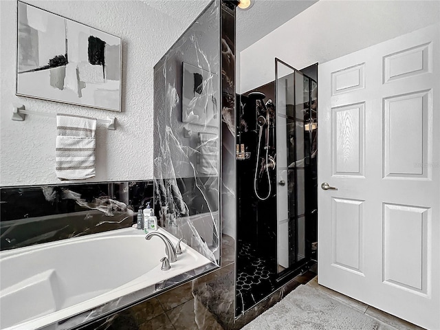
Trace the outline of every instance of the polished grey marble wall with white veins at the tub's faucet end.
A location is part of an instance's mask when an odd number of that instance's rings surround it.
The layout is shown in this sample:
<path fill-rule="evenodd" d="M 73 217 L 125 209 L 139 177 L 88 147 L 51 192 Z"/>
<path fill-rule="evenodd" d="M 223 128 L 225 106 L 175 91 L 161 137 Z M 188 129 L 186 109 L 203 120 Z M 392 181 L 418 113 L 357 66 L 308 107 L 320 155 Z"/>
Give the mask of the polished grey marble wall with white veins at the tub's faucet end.
<path fill-rule="evenodd" d="M 210 3 L 154 67 L 155 213 L 159 225 L 216 264 L 220 254 L 219 8 L 219 1 Z"/>

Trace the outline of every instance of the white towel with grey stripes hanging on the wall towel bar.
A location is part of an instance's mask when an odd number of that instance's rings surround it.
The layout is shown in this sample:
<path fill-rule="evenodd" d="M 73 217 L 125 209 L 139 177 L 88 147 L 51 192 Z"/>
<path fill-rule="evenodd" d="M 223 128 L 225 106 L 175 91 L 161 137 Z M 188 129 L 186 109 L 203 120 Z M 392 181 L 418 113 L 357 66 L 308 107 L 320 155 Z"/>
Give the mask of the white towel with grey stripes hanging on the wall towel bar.
<path fill-rule="evenodd" d="M 56 177 L 82 180 L 95 176 L 96 118 L 56 115 Z"/>

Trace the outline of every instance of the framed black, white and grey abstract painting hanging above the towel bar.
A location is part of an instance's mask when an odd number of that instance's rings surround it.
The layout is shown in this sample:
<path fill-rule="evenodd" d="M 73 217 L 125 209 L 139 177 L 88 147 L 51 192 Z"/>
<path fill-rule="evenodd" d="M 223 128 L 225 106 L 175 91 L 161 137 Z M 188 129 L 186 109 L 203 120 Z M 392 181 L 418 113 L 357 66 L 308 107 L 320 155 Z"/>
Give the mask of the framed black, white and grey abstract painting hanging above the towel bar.
<path fill-rule="evenodd" d="M 17 95 L 121 111 L 121 39 L 18 6 Z"/>

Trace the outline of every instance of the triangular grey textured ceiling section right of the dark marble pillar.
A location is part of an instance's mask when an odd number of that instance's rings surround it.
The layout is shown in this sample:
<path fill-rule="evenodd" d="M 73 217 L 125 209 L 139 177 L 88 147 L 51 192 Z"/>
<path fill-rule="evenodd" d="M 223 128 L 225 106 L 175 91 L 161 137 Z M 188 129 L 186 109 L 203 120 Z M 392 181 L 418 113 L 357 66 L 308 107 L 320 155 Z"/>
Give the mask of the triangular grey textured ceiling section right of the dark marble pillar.
<path fill-rule="evenodd" d="M 317 0 L 254 0 L 249 10 L 236 10 L 236 49 L 240 52 L 283 25 Z"/>

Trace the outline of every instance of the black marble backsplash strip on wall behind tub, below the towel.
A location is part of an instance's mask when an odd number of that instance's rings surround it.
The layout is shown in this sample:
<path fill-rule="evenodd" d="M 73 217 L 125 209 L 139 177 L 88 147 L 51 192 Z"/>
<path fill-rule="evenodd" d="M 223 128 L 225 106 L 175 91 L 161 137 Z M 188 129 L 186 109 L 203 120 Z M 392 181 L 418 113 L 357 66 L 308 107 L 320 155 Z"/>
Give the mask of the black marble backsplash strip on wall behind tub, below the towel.
<path fill-rule="evenodd" d="M 0 188 L 1 250 L 130 227 L 153 181 Z"/>

